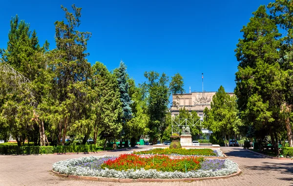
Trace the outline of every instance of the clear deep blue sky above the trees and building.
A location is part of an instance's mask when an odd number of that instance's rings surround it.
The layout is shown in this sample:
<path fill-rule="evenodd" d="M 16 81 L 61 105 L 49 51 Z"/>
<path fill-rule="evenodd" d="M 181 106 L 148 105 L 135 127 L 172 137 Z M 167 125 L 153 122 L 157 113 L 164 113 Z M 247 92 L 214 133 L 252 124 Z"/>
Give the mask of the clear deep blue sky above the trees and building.
<path fill-rule="evenodd" d="M 60 5 L 82 7 L 79 31 L 89 31 L 88 61 L 109 70 L 122 59 L 135 82 L 145 71 L 180 73 L 185 90 L 227 92 L 235 88 L 234 49 L 252 12 L 270 0 L 13 0 L 1 2 L 0 48 L 6 48 L 10 19 L 16 14 L 37 31 L 40 43 L 55 48 L 54 22 L 64 19 Z"/>

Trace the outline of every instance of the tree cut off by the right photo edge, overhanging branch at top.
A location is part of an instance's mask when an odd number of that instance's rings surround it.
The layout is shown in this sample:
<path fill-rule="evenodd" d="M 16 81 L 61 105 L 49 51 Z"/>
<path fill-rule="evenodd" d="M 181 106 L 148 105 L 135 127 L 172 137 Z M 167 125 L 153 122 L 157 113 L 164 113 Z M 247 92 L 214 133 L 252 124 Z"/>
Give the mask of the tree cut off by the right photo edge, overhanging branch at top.
<path fill-rule="evenodd" d="M 285 30 L 284 36 L 280 39 L 282 42 L 280 53 L 282 58 L 278 61 L 281 69 L 284 71 L 283 91 L 281 97 L 280 115 L 282 122 L 285 123 L 287 130 L 287 138 L 289 146 L 293 147 L 293 132 L 292 132 L 292 108 L 293 108 L 293 60 L 292 60 L 292 44 L 293 44 L 293 1 L 292 0 L 275 0 L 268 5 L 272 18 L 276 24 Z"/>

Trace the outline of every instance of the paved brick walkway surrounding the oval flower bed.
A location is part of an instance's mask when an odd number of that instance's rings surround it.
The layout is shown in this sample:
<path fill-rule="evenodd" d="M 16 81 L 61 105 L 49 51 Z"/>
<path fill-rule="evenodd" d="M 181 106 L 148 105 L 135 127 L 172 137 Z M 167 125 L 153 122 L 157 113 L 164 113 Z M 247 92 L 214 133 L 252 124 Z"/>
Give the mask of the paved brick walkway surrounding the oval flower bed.
<path fill-rule="evenodd" d="M 147 146 L 146 146 L 147 147 Z M 180 186 L 293 186 L 293 160 L 262 158 L 242 148 L 221 148 L 238 163 L 240 176 L 197 182 L 173 183 Z M 126 151 L 105 152 L 118 155 Z M 169 186 L 172 183 L 111 183 L 61 178 L 50 172 L 54 162 L 93 154 L 0 155 L 0 186 Z"/>

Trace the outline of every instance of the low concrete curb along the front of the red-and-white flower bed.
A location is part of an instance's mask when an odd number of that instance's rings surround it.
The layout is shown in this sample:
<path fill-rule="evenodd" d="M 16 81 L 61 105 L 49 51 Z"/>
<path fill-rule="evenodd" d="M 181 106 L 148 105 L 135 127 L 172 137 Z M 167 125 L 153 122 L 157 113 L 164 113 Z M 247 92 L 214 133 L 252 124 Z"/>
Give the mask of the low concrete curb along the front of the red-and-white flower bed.
<path fill-rule="evenodd" d="M 194 182 L 202 180 L 216 180 L 216 179 L 225 179 L 234 176 L 239 176 L 242 171 L 238 168 L 238 172 L 228 175 L 228 176 L 217 176 L 217 177 L 205 177 L 205 178 L 179 178 L 179 179 L 160 179 L 160 178 L 144 178 L 144 179 L 129 179 L 129 178 L 106 178 L 106 177 L 92 177 L 92 176 L 75 176 L 75 175 L 66 175 L 60 174 L 54 170 L 51 170 L 54 174 L 61 177 L 68 177 L 78 180 L 91 180 L 91 181 L 100 181 L 100 182 L 120 182 L 120 183 L 132 183 L 132 182 Z"/>

